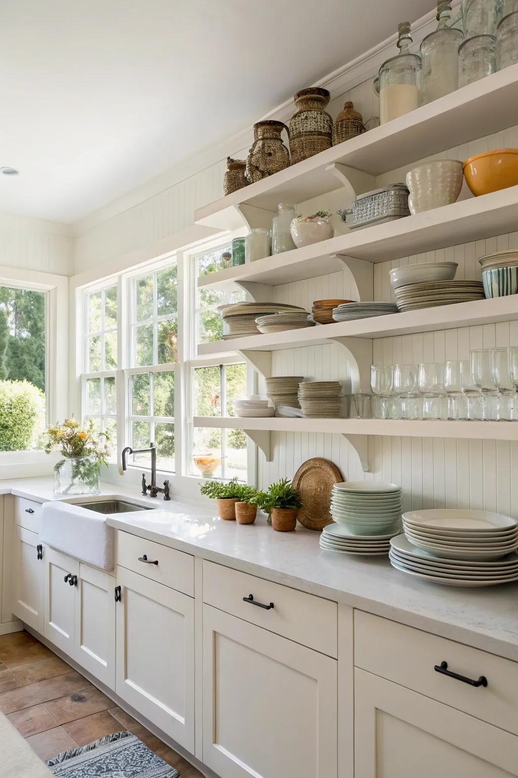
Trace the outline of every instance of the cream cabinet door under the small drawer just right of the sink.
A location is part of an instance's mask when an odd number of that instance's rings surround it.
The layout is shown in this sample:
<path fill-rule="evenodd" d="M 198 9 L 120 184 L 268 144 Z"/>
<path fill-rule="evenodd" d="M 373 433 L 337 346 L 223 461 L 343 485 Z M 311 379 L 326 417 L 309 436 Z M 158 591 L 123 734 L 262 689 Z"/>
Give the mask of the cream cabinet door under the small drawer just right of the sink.
<path fill-rule="evenodd" d="M 194 600 L 116 569 L 116 693 L 194 753 Z"/>

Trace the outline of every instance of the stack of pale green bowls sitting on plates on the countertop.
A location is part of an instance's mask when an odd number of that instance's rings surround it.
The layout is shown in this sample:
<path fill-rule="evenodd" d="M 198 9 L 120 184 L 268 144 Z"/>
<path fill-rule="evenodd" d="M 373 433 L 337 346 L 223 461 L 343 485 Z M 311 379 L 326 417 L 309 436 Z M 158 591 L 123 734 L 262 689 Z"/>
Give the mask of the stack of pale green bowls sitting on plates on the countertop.
<path fill-rule="evenodd" d="M 400 531 L 401 487 L 377 482 L 346 481 L 332 487 L 331 515 L 353 534 L 386 535 Z"/>

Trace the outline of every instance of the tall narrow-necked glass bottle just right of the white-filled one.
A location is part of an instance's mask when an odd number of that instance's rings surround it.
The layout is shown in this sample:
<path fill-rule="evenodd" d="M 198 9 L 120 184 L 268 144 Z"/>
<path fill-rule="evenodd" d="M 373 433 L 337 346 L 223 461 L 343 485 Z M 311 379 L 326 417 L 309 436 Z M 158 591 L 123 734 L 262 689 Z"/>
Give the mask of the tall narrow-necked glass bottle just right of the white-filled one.
<path fill-rule="evenodd" d="M 419 105 L 427 105 L 458 88 L 459 46 L 461 30 L 448 26 L 451 16 L 450 0 L 438 0 L 439 25 L 434 33 L 422 40 L 422 69 L 419 76 Z"/>

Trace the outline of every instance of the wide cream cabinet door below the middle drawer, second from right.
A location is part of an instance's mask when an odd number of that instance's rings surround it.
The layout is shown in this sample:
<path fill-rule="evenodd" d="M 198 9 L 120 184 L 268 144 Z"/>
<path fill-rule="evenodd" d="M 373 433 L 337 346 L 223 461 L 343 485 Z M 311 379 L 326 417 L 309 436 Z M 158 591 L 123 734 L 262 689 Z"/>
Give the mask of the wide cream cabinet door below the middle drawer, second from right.
<path fill-rule="evenodd" d="M 203 605 L 203 762 L 225 778 L 335 778 L 337 663 Z"/>

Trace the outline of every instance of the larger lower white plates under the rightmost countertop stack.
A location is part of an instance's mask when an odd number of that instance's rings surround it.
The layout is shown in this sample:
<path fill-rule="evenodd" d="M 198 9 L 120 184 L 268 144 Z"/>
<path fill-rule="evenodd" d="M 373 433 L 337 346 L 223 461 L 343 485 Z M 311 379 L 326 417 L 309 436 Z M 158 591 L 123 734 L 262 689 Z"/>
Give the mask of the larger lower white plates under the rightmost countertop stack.
<path fill-rule="evenodd" d="M 404 534 L 392 538 L 389 559 L 402 573 L 443 586 L 479 587 L 509 584 L 518 580 L 518 554 L 500 559 L 445 559 L 412 545 Z"/>

